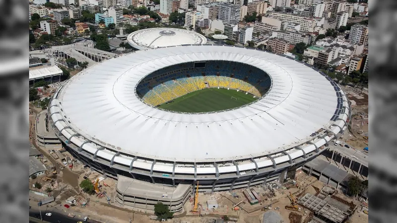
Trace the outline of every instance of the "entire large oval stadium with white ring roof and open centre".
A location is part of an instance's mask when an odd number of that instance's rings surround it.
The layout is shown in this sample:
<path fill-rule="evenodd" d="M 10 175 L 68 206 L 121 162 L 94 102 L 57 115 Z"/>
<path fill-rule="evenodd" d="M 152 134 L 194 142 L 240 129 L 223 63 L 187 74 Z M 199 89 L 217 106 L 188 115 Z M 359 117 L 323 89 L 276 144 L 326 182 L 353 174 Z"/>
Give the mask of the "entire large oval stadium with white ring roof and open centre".
<path fill-rule="evenodd" d="M 350 105 L 301 61 L 190 45 L 81 71 L 55 93 L 48 118 L 73 156 L 118 179 L 119 203 L 180 211 L 197 181 L 212 193 L 293 178 L 347 128 Z"/>

